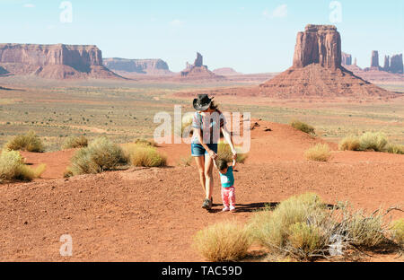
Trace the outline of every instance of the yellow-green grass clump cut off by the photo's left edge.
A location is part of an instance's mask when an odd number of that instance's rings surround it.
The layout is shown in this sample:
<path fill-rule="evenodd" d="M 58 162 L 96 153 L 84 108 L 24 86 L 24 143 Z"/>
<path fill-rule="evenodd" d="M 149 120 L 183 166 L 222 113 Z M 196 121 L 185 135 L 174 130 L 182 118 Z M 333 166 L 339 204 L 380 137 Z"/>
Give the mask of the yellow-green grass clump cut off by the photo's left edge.
<path fill-rule="evenodd" d="M 40 178 L 46 165 L 40 164 L 35 170 L 25 165 L 22 155 L 17 151 L 4 150 L 0 154 L 0 183 L 4 181 L 32 180 Z"/>

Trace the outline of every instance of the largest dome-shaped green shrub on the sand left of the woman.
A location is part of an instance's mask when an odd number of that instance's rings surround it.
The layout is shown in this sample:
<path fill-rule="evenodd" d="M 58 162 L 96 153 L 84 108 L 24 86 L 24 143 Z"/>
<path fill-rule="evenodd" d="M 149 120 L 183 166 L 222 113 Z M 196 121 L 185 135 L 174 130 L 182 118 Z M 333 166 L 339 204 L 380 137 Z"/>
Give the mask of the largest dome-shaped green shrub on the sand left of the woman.
<path fill-rule="evenodd" d="M 70 162 L 66 175 L 95 174 L 127 164 L 127 157 L 119 144 L 100 137 L 76 151 Z"/>

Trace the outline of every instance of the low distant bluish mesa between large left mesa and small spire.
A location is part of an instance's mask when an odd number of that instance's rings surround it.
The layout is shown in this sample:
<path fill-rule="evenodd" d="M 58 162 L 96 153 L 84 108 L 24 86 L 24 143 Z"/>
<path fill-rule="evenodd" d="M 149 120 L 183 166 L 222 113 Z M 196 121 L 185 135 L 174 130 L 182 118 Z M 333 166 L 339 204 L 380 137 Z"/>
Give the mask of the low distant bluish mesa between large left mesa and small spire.
<path fill-rule="evenodd" d="M 127 59 L 104 58 L 104 66 L 117 73 L 130 74 L 172 74 L 169 66 L 162 59 Z"/>

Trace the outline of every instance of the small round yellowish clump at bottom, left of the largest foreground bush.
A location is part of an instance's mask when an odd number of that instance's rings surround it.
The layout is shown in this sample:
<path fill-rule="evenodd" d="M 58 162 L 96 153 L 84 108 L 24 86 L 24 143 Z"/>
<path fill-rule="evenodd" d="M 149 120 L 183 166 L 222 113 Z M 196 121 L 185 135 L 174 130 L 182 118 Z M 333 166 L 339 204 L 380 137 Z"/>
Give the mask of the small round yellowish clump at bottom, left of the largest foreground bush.
<path fill-rule="evenodd" d="M 234 261 L 246 256 L 249 231 L 234 221 L 215 223 L 197 232 L 193 247 L 209 261 Z"/>

